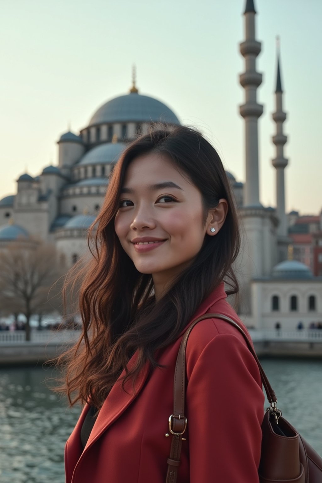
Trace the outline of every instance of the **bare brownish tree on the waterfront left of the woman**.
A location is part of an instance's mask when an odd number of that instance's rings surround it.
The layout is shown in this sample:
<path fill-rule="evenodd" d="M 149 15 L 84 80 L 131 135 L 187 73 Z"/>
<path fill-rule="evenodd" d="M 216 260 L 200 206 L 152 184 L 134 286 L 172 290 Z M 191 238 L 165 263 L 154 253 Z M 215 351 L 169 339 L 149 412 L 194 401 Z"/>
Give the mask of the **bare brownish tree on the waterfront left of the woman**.
<path fill-rule="evenodd" d="M 56 248 L 44 243 L 26 247 L 13 243 L 0 253 L 0 306 L 7 313 L 26 317 L 26 341 L 30 341 L 30 317 L 55 310 L 48 293 L 66 268 Z M 50 310 L 50 307 L 52 309 Z"/>

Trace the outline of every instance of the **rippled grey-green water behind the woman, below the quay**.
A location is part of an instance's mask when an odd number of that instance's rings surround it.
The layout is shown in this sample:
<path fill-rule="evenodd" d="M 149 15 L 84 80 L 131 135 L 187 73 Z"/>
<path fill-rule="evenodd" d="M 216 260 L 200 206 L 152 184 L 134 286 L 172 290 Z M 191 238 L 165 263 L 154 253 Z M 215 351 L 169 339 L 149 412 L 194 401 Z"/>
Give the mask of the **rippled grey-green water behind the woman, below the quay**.
<path fill-rule="evenodd" d="M 263 360 L 279 408 L 322 455 L 322 361 Z M 0 483 L 63 483 L 64 445 L 80 407 L 43 381 L 52 369 L 0 369 Z"/>

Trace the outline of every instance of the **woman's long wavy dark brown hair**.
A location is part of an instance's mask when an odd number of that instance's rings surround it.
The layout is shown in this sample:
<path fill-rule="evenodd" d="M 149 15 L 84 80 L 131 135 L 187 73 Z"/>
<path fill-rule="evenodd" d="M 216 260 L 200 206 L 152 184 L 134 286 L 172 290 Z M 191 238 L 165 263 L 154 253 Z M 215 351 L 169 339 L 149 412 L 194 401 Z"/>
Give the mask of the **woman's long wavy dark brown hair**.
<path fill-rule="evenodd" d="M 168 156 L 199 189 L 205 219 L 219 199 L 228 202 L 218 234 L 205 236 L 193 262 L 159 300 L 153 296 L 152 276 L 135 268 L 114 230 L 126 169 L 134 158 L 149 152 Z M 178 338 L 218 284 L 224 281 L 227 294 L 237 294 L 232 263 L 239 245 L 235 200 L 223 164 L 196 129 L 154 127 L 128 144 L 115 165 L 102 209 L 89 233 L 91 259 L 76 277 L 70 274 L 74 286 L 80 283 L 78 307 L 83 331 L 75 346 L 57 359 L 64 375 L 56 391 L 65 393 L 70 405 L 89 402 L 99 409 L 136 351 L 137 362 L 133 369 L 126 369 L 123 384 L 128 378 L 134 381 L 147 361 L 152 370 L 158 367 L 159 350 Z"/>

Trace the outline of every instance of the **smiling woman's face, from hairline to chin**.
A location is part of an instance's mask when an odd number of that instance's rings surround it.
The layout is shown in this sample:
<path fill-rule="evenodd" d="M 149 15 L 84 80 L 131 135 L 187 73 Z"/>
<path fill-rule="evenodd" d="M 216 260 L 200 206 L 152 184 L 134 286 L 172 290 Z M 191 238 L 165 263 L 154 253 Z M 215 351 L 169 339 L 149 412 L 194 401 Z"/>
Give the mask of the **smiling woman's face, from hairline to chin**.
<path fill-rule="evenodd" d="M 206 232 L 212 234 L 203 223 L 200 191 L 164 155 L 148 153 L 130 163 L 119 206 L 115 232 L 154 285 L 176 276 L 197 255 Z"/>

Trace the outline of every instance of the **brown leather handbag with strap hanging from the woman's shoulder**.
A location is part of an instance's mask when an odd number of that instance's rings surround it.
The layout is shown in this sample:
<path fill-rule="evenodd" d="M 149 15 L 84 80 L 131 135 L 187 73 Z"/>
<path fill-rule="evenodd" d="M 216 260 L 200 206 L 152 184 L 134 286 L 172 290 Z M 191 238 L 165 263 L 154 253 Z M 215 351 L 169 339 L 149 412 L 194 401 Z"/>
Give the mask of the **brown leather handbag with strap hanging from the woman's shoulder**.
<path fill-rule="evenodd" d="M 184 398 L 185 349 L 188 337 L 191 330 L 200 320 L 209 318 L 223 319 L 241 332 L 257 362 L 267 399 L 270 403 L 262 423 L 262 450 L 258 469 L 260 483 L 322 483 L 322 458 L 302 438 L 296 429 L 282 417 L 282 413 L 276 405 L 277 398 L 275 392 L 271 388 L 261 363 L 252 348 L 252 344 L 243 329 L 234 320 L 220 313 L 206 313 L 198 317 L 188 327 L 182 337 L 175 369 L 173 414 L 169 417 L 169 430 L 172 434 L 172 441 L 168 458 L 166 483 L 176 483 L 177 481 L 182 435 L 187 426 L 187 419 L 184 416 Z"/>

